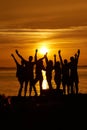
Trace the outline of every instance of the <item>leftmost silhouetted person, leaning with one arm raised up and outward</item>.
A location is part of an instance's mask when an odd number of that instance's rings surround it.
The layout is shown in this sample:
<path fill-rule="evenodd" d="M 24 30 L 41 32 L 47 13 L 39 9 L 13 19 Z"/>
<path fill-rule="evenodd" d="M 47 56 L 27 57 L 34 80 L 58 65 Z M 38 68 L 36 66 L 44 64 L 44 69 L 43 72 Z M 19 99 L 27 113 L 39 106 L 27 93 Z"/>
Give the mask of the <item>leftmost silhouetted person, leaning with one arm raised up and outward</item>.
<path fill-rule="evenodd" d="M 11 56 L 13 57 L 15 63 L 16 63 L 16 67 L 17 67 L 17 71 L 16 71 L 16 77 L 18 78 L 18 81 L 20 83 L 20 88 L 18 91 L 18 96 L 21 96 L 22 94 L 22 89 L 23 89 L 23 84 L 25 82 L 25 67 L 24 67 L 24 62 L 21 60 L 21 64 L 18 63 L 18 61 L 16 60 L 16 58 L 14 57 L 13 54 L 11 54 Z"/>

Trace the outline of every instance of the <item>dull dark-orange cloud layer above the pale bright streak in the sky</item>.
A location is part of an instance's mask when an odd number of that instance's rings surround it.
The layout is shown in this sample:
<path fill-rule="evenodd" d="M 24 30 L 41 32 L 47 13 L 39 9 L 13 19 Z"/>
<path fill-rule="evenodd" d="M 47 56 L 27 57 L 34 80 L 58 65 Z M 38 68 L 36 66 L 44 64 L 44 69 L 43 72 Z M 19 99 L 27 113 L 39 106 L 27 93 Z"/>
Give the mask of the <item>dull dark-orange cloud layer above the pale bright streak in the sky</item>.
<path fill-rule="evenodd" d="M 3 0 L 0 28 L 67 28 L 87 25 L 86 0 Z"/>

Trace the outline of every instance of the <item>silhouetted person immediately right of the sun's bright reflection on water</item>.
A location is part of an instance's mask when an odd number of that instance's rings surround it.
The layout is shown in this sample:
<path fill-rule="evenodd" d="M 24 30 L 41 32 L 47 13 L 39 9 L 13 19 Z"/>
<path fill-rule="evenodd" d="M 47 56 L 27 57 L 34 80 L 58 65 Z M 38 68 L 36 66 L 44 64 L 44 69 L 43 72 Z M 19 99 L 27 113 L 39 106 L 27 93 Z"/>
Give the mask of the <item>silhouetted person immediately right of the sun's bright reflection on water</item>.
<path fill-rule="evenodd" d="M 48 60 L 47 53 L 45 55 L 45 61 L 46 61 L 46 79 L 49 85 L 49 89 L 52 90 L 52 70 L 53 70 L 53 61 Z"/>

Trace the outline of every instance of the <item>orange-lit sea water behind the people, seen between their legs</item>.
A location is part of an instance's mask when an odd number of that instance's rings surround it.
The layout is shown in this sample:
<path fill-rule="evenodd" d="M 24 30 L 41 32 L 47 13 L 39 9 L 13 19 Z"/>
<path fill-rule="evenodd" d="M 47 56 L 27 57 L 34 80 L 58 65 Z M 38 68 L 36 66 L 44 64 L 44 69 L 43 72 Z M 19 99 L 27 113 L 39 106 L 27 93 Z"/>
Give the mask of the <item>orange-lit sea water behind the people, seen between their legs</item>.
<path fill-rule="evenodd" d="M 79 74 L 79 93 L 87 93 L 87 68 L 78 68 Z M 46 79 L 43 82 L 43 89 L 47 87 Z M 56 87 L 54 80 L 52 80 L 53 88 Z M 61 86 L 62 87 L 62 86 Z M 36 84 L 36 89 L 38 95 L 39 91 L 39 83 Z M 3 69 L 0 70 L 0 94 L 5 94 L 6 96 L 17 96 L 19 90 L 19 82 L 16 78 L 16 70 L 15 69 Z M 28 86 L 29 91 L 29 86 Z M 27 96 L 28 96 L 27 91 Z M 22 91 L 22 95 L 24 94 L 24 90 Z M 32 96 L 34 95 L 34 91 L 32 91 Z"/>

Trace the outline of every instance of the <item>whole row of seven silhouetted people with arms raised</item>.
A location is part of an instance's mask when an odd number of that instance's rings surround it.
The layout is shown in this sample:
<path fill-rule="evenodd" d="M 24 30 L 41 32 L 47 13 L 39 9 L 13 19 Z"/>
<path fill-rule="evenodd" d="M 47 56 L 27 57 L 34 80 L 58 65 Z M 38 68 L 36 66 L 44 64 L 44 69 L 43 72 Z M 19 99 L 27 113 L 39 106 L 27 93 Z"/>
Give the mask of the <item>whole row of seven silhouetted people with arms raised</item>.
<path fill-rule="evenodd" d="M 70 61 L 67 59 L 62 59 L 61 51 L 58 51 L 59 60 L 56 60 L 56 55 L 54 55 L 54 61 L 49 60 L 47 53 L 40 59 L 37 58 L 38 49 L 35 50 L 35 56 L 29 56 L 29 60 L 26 60 L 19 54 L 18 50 L 15 51 L 18 57 L 21 58 L 21 63 L 19 63 L 15 56 L 13 57 L 17 71 L 16 77 L 20 83 L 20 88 L 18 91 L 18 96 L 22 95 L 22 89 L 24 87 L 24 96 L 27 94 L 27 89 L 29 86 L 29 96 L 31 96 L 32 89 L 34 89 L 35 96 L 37 96 L 36 83 L 39 81 L 40 95 L 42 95 L 42 83 L 43 75 L 42 70 L 46 71 L 46 79 L 48 82 L 49 90 L 53 89 L 52 86 L 52 72 L 54 71 L 54 81 L 56 84 L 56 89 L 60 91 L 60 86 L 62 84 L 63 94 L 78 94 L 78 59 L 80 55 L 80 50 L 74 56 L 70 57 Z M 45 60 L 46 66 L 43 64 Z M 34 74 L 35 73 L 35 74 Z M 75 89 L 74 89 L 75 88 Z"/>

